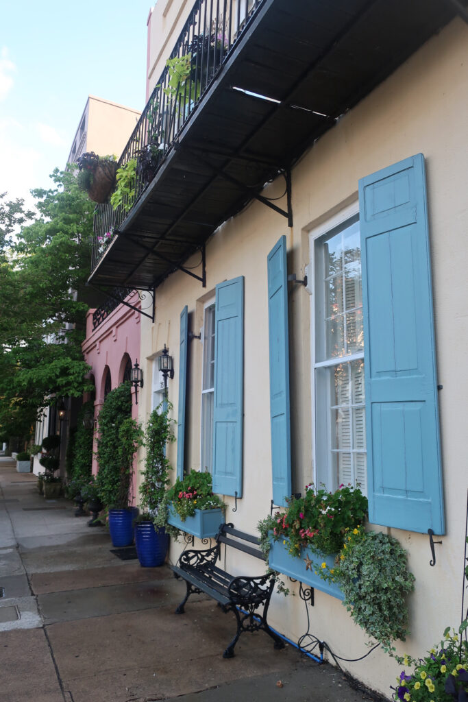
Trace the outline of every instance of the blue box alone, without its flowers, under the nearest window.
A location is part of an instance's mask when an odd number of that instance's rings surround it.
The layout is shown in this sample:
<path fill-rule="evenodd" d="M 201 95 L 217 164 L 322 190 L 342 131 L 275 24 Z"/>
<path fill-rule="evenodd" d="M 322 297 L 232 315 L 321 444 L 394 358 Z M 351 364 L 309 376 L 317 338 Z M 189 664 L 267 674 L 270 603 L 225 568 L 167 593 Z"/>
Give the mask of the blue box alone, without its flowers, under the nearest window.
<path fill-rule="evenodd" d="M 312 561 L 312 569 L 309 568 L 306 570 L 305 561 L 307 556 Z M 328 583 L 322 580 L 319 575 L 315 574 L 315 571 L 321 569 L 323 561 L 326 562 L 329 568 L 333 568 L 335 555 L 317 555 L 308 548 L 301 548 L 300 557 L 292 556 L 288 553 L 287 541 L 286 544 L 284 544 L 283 541 L 272 541 L 272 548 L 270 548 L 268 556 L 269 567 L 273 570 L 288 575 L 290 578 L 294 578 L 312 588 L 316 588 L 316 590 L 326 592 L 327 595 L 337 597 L 338 600 L 344 600 L 345 595 L 343 595 L 337 583 Z"/>

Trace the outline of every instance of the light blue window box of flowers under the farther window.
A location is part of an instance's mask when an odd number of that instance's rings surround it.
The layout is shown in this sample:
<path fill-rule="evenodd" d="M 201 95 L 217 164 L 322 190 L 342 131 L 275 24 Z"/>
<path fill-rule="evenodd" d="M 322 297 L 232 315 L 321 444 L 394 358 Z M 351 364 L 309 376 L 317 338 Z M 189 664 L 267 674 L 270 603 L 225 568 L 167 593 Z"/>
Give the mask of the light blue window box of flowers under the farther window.
<path fill-rule="evenodd" d="M 213 493 L 210 473 L 191 470 L 166 492 L 160 512 L 166 523 L 178 531 L 211 538 L 225 521 L 225 508 L 225 503 Z"/>

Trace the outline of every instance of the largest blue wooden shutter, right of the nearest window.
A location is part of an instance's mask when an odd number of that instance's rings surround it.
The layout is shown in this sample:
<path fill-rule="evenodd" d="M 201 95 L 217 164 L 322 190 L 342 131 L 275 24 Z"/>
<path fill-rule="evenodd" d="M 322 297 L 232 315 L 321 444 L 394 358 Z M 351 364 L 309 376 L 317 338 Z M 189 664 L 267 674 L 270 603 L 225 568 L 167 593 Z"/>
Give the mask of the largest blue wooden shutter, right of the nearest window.
<path fill-rule="evenodd" d="M 359 182 L 369 519 L 444 532 L 424 157 Z"/>

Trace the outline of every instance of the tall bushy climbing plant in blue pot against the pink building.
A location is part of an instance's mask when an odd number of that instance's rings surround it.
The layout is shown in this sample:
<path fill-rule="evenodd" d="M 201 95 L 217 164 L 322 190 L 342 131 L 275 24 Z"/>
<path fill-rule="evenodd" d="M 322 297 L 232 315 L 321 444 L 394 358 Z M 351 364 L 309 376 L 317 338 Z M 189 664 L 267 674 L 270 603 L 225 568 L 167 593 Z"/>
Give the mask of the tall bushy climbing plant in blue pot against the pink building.
<path fill-rule="evenodd" d="M 131 418 L 131 386 L 122 383 L 105 399 L 98 417 L 98 476 L 102 503 L 109 508 L 109 529 L 114 546 L 133 542 L 131 484 L 133 456 L 142 445 L 142 428 Z"/>

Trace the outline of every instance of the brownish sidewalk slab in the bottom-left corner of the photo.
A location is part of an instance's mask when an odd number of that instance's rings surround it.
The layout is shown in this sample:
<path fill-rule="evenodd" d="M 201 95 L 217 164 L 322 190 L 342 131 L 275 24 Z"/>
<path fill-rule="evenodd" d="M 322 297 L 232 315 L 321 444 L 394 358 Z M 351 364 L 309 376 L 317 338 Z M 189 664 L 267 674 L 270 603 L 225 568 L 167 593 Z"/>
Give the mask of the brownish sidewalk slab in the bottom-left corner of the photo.
<path fill-rule="evenodd" d="M 0 665 L 0 702 L 63 702 L 44 630 L 2 633 Z"/>

